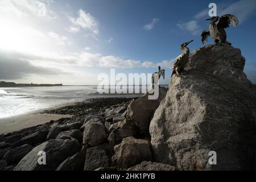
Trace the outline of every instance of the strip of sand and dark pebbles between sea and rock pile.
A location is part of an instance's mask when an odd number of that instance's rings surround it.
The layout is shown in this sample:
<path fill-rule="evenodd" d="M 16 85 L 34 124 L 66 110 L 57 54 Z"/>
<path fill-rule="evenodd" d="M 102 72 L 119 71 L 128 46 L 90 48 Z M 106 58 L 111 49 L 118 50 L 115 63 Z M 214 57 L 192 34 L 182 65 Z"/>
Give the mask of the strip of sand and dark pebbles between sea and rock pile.
<path fill-rule="evenodd" d="M 47 109 L 38 109 L 10 118 L 0 118 L 0 134 L 12 133 L 28 127 L 43 125 L 61 118 L 71 118 L 74 115 L 94 113 L 104 107 L 115 105 L 119 103 L 119 101 L 132 100 L 133 98 L 137 97 L 96 97 L 79 102 L 76 101 L 64 105 L 52 106 Z"/>

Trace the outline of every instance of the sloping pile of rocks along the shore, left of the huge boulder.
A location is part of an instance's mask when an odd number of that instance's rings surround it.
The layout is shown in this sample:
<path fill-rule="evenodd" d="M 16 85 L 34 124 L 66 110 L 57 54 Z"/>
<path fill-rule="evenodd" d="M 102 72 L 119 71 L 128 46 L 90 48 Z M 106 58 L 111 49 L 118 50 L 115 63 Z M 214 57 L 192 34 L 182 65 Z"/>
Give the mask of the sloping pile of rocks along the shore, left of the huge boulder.
<path fill-rule="evenodd" d="M 159 100 L 147 100 L 148 94 L 145 94 L 97 113 L 0 135 L 0 169 L 127 169 L 150 161 L 148 126 L 165 94 L 166 90 L 160 89 Z M 40 151 L 45 152 L 46 165 L 38 163 Z"/>

